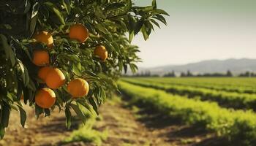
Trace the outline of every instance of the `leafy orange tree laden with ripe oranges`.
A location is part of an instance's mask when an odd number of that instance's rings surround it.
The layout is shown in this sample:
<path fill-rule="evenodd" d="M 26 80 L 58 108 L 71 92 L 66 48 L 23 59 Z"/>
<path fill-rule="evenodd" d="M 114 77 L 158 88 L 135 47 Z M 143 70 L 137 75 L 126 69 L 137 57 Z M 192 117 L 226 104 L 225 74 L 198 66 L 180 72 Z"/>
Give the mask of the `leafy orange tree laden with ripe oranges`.
<path fill-rule="evenodd" d="M 157 9 L 136 7 L 131 0 L 1 0 L 0 1 L 0 135 L 10 111 L 21 102 L 37 118 L 58 108 L 85 122 L 86 110 L 97 112 L 116 80 L 129 67 L 135 72 L 138 47 L 132 38 L 148 39 L 154 25 L 166 23 Z"/>

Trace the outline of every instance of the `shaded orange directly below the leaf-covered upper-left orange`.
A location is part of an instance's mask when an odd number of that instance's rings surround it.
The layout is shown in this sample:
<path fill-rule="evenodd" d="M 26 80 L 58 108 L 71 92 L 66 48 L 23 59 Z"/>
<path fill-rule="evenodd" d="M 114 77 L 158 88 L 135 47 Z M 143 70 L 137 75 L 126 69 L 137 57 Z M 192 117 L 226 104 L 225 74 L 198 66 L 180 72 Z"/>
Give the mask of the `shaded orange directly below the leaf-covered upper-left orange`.
<path fill-rule="evenodd" d="M 33 63 L 37 66 L 45 66 L 49 64 L 49 54 L 45 50 L 35 50 L 33 55 Z"/>

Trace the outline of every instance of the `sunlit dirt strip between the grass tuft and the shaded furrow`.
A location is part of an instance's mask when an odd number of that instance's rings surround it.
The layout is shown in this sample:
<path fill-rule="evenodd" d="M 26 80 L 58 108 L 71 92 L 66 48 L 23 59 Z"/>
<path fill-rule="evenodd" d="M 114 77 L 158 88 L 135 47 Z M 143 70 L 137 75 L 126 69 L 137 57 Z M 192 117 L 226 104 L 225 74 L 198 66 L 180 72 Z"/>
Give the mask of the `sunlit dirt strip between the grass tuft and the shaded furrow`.
<path fill-rule="evenodd" d="M 108 129 L 108 139 L 103 145 L 169 145 L 166 139 L 157 137 L 156 131 L 148 131 L 121 104 L 105 104 L 100 112 L 103 120 L 95 128 Z"/>

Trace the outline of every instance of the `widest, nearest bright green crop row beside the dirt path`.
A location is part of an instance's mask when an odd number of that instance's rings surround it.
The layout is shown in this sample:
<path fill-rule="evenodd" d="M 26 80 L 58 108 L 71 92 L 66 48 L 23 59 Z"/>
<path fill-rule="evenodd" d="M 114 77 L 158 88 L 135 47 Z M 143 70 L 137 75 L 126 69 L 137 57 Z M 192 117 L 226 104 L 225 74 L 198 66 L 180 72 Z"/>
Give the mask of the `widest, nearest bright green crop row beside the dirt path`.
<path fill-rule="evenodd" d="M 226 137 L 239 145 L 254 145 L 256 142 L 256 115 L 252 111 L 228 110 L 216 103 L 173 96 L 127 82 L 118 82 L 118 85 L 132 101 L 150 105 L 184 123 L 214 131 L 219 137 Z"/>

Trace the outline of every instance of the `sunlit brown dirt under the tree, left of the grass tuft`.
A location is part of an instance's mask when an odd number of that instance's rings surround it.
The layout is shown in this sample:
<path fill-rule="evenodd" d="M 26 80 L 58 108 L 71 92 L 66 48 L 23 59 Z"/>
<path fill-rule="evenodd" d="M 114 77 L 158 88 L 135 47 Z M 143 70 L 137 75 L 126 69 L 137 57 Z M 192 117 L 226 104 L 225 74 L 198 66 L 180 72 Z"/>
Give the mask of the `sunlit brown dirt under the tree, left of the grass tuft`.
<path fill-rule="evenodd" d="M 18 112 L 12 111 L 9 127 L 0 145 L 55 145 L 70 134 L 71 131 L 65 127 L 63 112 L 52 112 L 50 117 L 40 117 L 37 120 L 34 117 L 34 110 L 30 107 L 25 107 L 25 110 L 27 112 L 26 128 L 20 126 Z"/>

